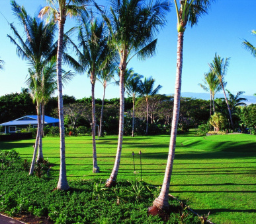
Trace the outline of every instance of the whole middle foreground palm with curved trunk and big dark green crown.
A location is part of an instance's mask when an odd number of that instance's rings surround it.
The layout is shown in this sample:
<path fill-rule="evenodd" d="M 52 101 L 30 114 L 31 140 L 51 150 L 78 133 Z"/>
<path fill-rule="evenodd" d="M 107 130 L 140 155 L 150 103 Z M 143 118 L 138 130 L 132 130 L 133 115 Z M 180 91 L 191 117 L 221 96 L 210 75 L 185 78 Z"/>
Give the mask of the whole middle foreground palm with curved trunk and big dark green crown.
<path fill-rule="evenodd" d="M 157 40 L 155 32 L 159 26 L 165 24 L 165 14 L 169 11 L 169 2 L 151 1 L 146 4 L 142 0 L 112 0 L 110 1 L 110 15 L 103 18 L 110 30 L 110 45 L 120 57 L 120 115 L 118 146 L 112 173 L 106 183 L 110 187 L 116 182 L 122 152 L 122 138 L 124 129 L 124 73 L 132 57 L 146 59 L 155 53 Z"/>

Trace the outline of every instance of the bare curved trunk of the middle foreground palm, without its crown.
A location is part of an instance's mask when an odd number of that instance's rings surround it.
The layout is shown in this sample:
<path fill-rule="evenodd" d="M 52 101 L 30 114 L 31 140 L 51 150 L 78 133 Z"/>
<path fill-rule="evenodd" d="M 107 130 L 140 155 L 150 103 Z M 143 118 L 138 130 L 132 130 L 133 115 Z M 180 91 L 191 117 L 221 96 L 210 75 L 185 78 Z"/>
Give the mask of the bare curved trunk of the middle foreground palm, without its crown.
<path fill-rule="evenodd" d="M 124 72 L 126 70 L 126 61 L 122 59 L 120 63 L 120 111 L 119 111 L 119 130 L 118 130 L 118 145 L 116 150 L 116 159 L 114 161 L 114 167 L 109 179 L 106 182 L 107 187 L 111 187 L 116 183 L 116 177 L 118 175 L 118 169 L 120 165 L 121 153 L 122 153 L 122 138 L 124 133 Z"/>

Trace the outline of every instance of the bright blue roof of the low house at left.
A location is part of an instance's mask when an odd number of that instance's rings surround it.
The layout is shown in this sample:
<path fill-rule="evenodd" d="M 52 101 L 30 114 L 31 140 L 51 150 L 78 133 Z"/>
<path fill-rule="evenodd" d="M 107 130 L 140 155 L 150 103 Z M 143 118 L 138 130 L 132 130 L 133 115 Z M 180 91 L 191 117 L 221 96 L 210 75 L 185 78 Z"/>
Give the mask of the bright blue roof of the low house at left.
<path fill-rule="evenodd" d="M 56 119 L 54 117 L 48 117 L 44 116 L 44 124 L 52 124 L 52 123 L 59 123 L 59 119 Z M 20 117 L 18 119 L 15 119 L 13 121 L 9 121 L 3 124 L 0 124 L 1 126 L 12 126 L 12 125 L 37 125 L 37 115 L 27 115 L 24 117 Z"/>

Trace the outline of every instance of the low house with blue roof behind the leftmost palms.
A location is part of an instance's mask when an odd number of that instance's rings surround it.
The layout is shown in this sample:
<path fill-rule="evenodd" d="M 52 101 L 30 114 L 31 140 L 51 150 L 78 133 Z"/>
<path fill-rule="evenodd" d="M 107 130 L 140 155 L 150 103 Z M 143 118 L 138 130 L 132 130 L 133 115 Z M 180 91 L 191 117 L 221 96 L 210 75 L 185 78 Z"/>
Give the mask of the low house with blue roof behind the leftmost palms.
<path fill-rule="evenodd" d="M 13 121 L 0 124 L 5 127 L 5 133 L 15 133 L 17 128 L 27 128 L 31 125 L 33 128 L 37 128 L 37 115 L 26 115 Z M 59 119 L 44 116 L 44 125 L 59 126 Z"/>

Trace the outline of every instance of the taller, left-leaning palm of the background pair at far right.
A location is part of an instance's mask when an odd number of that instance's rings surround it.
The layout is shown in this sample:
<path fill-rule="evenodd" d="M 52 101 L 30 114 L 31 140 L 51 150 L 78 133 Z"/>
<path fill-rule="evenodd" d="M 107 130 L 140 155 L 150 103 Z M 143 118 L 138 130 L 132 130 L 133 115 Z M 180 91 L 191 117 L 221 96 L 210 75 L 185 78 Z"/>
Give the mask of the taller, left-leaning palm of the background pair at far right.
<path fill-rule="evenodd" d="M 225 92 L 225 82 L 224 82 L 224 76 L 227 73 L 227 69 L 228 69 L 228 65 L 229 65 L 229 60 L 228 58 L 223 59 L 220 57 L 220 55 L 215 54 L 214 59 L 212 61 L 212 63 L 210 63 L 210 69 L 212 70 L 212 72 L 214 72 L 214 74 L 216 74 L 216 76 L 218 77 L 218 79 L 220 80 L 220 85 L 222 86 L 222 90 L 224 93 L 224 97 L 228 106 L 228 113 L 230 114 L 230 123 L 232 125 L 233 130 L 235 129 L 234 127 L 234 123 L 232 120 L 232 114 L 231 114 L 231 110 L 230 110 L 230 105 L 228 103 L 228 99 L 226 96 L 226 92 Z"/>

